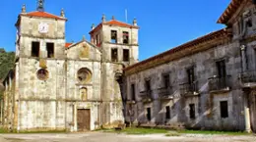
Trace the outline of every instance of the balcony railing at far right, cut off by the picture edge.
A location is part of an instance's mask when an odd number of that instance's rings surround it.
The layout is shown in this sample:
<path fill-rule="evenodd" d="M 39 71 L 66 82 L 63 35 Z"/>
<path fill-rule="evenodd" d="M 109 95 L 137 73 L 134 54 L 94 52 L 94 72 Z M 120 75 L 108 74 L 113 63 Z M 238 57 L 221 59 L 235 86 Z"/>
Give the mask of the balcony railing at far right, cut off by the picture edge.
<path fill-rule="evenodd" d="M 240 74 L 241 83 L 244 86 L 256 85 L 256 71 L 245 71 Z"/>

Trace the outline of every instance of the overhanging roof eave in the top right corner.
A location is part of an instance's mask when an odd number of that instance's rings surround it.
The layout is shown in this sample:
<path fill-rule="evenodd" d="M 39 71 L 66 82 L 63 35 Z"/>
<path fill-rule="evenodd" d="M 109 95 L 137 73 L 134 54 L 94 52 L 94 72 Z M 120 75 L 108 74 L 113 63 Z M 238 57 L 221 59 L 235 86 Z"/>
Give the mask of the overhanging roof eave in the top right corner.
<path fill-rule="evenodd" d="M 223 15 L 221 16 L 217 23 L 226 24 L 243 1 L 244 0 L 231 0 L 230 4 L 227 6 Z"/>

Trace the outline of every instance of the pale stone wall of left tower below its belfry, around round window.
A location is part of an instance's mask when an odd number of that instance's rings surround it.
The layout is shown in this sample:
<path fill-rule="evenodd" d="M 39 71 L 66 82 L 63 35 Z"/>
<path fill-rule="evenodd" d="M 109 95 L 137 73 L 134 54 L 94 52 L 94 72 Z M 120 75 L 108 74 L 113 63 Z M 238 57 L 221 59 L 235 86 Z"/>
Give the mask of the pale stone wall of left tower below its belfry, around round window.
<path fill-rule="evenodd" d="M 65 128 L 65 61 L 45 60 L 46 80 L 37 78 L 39 60 L 20 58 L 19 62 L 20 128 Z"/>

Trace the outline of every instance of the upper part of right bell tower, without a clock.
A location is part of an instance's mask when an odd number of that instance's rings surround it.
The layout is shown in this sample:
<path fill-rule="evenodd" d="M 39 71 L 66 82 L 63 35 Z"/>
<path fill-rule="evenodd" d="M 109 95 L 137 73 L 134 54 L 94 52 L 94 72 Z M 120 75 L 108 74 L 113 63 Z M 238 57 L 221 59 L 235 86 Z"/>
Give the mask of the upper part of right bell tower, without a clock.
<path fill-rule="evenodd" d="M 101 48 L 103 61 L 127 67 L 139 61 L 138 31 L 136 19 L 126 24 L 102 15 L 101 23 L 92 25 L 91 42 Z"/>

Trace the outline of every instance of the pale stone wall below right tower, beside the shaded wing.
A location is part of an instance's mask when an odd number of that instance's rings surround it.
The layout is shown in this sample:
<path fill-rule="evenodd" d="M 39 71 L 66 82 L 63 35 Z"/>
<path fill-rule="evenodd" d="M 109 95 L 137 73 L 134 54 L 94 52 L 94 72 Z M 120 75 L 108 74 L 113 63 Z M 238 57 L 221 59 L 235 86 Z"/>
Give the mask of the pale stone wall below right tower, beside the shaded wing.
<path fill-rule="evenodd" d="M 124 121 L 120 85 L 115 79 L 117 72 L 122 73 L 122 65 L 112 63 L 101 64 L 102 76 L 102 121 L 108 125 L 116 120 Z"/>

